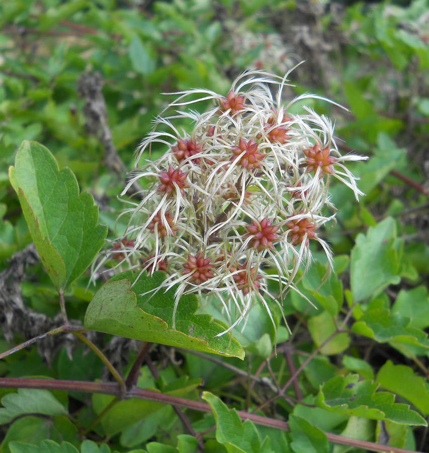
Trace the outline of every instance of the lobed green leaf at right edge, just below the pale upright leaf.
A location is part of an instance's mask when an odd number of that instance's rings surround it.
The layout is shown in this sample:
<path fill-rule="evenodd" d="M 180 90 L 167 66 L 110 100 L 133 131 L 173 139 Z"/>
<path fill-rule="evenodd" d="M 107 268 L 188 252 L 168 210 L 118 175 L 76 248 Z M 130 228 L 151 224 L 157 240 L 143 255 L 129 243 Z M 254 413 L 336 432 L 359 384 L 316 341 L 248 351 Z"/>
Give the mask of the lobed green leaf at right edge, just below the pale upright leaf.
<path fill-rule="evenodd" d="M 385 308 L 368 310 L 352 326 L 352 332 L 373 338 L 380 343 L 394 341 L 429 349 L 427 335 L 420 329 L 409 327 L 409 319 Z"/>

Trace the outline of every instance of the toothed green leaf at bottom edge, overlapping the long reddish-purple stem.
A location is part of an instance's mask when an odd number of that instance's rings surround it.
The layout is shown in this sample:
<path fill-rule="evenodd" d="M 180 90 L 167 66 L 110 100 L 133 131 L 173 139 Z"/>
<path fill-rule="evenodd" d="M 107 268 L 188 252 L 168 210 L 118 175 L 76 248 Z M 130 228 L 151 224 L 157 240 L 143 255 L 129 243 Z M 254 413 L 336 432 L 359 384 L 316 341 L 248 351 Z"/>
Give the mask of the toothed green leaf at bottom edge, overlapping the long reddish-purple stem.
<path fill-rule="evenodd" d="M 209 403 L 216 420 L 216 440 L 225 445 L 229 453 L 260 453 L 261 439 L 250 420 L 241 422 L 235 409 L 229 410 L 215 395 L 203 392 L 203 400 Z"/>

